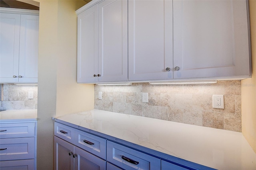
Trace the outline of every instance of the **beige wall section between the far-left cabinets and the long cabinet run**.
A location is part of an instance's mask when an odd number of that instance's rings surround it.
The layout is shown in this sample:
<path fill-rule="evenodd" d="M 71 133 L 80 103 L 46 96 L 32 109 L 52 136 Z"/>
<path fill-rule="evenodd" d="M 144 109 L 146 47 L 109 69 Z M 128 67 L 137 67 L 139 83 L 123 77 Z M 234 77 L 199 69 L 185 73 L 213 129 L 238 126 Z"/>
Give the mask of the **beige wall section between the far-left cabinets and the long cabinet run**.
<path fill-rule="evenodd" d="M 40 2 L 37 169 L 54 167 L 52 116 L 93 109 L 94 86 L 76 83 L 76 13 L 82 0 Z"/>

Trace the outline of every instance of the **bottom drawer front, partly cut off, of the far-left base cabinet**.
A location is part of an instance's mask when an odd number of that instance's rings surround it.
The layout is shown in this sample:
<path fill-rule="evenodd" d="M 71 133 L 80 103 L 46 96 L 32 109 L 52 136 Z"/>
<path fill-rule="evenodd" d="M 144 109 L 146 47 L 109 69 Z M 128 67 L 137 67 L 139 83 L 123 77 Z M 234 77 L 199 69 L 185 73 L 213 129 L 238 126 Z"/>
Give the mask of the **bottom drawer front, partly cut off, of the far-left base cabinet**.
<path fill-rule="evenodd" d="M 9 160 L 0 162 L 1 170 L 35 170 L 35 160 Z"/>

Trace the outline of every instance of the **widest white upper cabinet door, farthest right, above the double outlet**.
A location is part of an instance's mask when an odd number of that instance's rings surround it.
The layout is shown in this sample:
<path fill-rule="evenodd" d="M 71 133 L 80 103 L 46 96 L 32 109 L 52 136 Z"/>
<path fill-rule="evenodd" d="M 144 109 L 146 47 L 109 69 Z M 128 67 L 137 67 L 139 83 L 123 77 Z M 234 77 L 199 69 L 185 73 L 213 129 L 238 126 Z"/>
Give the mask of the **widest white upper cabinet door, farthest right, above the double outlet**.
<path fill-rule="evenodd" d="M 173 1 L 174 79 L 249 76 L 245 0 Z"/>

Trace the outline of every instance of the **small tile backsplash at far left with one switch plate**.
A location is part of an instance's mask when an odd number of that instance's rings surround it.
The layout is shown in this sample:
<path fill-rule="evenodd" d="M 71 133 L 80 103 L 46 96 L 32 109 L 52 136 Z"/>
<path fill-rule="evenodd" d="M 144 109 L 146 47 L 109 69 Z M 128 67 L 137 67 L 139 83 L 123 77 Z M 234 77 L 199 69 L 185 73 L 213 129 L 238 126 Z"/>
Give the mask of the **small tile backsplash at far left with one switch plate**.
<path fill-rule="evenodd" d="M 37 109 L 37 86 L 2 84 L 0 109 Z M 34 92 L 34 99 L 28 99 L 28 92 Z"/>

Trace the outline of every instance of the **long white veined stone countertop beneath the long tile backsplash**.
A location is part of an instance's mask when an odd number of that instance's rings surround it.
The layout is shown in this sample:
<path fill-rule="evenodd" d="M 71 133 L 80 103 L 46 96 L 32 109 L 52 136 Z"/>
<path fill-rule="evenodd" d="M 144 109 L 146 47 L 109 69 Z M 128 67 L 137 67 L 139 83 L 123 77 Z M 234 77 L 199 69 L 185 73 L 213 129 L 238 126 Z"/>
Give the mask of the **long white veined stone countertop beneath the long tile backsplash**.
<path fill-rule="evenodd" d="M 256 154 L 239 132 L 97 109 L 55 120 L 219 170 L 256 170 Z"/>

